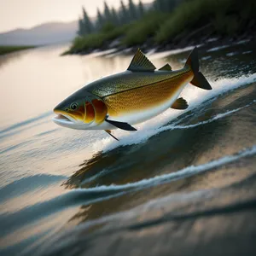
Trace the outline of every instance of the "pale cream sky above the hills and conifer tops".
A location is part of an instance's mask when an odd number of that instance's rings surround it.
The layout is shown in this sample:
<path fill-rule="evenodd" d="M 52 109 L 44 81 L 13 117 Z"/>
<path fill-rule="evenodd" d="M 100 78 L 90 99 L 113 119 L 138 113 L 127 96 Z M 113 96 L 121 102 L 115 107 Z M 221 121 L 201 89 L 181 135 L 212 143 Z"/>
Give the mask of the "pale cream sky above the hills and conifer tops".
<path fill-rule="evenodd" d="M 128 0 L 123 0 L 128 3 Z M 150 3 L 153 0 L 142 0 Z M 90 16 L 103 9 L 104 0 L 0 0 L 0 32 L 15 28 L 30 28 L 49 21 L 78 20 L 84 6 Z M 139 0 L 133 0 L 138 3 Z M 107 0 L 109 6 L 119 8 L 120 0 Z"/>

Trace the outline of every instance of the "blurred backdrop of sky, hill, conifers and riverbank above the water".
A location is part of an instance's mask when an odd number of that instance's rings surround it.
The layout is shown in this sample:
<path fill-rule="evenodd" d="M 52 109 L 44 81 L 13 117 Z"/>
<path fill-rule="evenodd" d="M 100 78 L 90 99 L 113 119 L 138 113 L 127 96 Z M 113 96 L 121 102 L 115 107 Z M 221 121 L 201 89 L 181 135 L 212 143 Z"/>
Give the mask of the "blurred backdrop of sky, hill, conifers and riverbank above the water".
<path fill-rule="evenodd" d="M 67 53 L 82 54 L 137 46 L 171 49 L 212 38 L 222 44 L 254 38 L 255 6 L 253 0 L 3 0 L 0 44 L 73 41 Z"/>

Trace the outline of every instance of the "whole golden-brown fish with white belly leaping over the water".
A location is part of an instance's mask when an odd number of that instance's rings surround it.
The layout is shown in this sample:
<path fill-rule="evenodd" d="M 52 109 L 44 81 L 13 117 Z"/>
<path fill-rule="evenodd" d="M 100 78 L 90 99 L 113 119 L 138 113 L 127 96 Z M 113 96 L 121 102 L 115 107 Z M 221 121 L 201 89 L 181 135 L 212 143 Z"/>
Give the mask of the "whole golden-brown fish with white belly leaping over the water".
<path fill-rule="evenodd" d="M 198 49 L 189 54 L 183 68 L 169 64 L 156 70 L 141 49 L 122 73 L 98 79 L 75 91 L 54 108 L 57 125 L 77 130 L 137 131 L 133 125 L 152 119 L 168 108 L 184 110 L 188 102 L 179 97 L 187 84 L 212 90 L 200 72 Z"/>

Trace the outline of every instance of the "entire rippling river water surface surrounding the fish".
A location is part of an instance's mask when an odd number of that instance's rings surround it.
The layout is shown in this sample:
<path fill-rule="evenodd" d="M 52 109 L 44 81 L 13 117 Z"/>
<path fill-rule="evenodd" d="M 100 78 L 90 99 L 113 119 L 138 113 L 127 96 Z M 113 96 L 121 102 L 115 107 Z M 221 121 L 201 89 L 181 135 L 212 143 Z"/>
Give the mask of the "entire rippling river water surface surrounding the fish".
<path fill-rule="evenodd" d="M 223 237 L 223 252 L 230 252 L 228 238 L 237 234 L 228 226 L 231 220 L 247 243 L 255 237 L 255 218 L 248 215 L 255 216 L 255 210 L 247 212 L 256 205 L 253 44 L 201 49 L 201 70 L 213 90 L 188 85 L 181 95 L 189 102 L 186 111 L 169 109 L 136 125 L 137 132 L 114 131 L 119 142 L 104 131 L 56 126 L 52 108 L 84 84 L 125 70 L 131 55 L 109 51 L 61 57 L 66 48 L 0 57 L 1 255 L 113 255 L 116 236 L 121 237 L 117 255 L 130 255 L 132 247 L 142 255 L 148 242 L 160 242 L 164 234 L 172 234 L 171 243 L 180 236 L 197 255 L 204 254 L 205 245 L 214 249 Z M 189 50 L 152 50 L 148 57 L 156 67 L 169 62 L 177 69 Z M 181 218 L 188 223 L 191 214 L 207 220 L 194 220 L 190 228 L 180 224 Z M 168 219 L 180 226 L 169 224 L 165 233 Z M 202 242 L 198 229 L 212 235 L 201 235 Z M 129 238 L 131 230 L 136 239 Z M 189 236 L 193 243 L 187 244 Z M 232 248 L 240 253 L 235 240 Z M 254 252 L 253 242 L 248 251 L 241 240 L 235 244 L 243 253 Z M 181 251 L 161 244 L 150 253 L 164 252 Z"/>

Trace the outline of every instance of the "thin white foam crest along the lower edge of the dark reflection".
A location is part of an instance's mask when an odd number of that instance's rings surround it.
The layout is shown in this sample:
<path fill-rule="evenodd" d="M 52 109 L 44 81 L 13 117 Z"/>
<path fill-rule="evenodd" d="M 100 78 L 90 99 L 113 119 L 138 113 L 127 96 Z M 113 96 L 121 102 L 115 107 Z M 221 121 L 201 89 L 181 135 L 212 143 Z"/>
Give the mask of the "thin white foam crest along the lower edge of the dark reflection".
<path fill-rule="evenodd" d="M 159 175 L 151 178 L 145 178 L 143 180 L 140 180 L 134 183 L 125 183 L 122 185 L 112 184 L 108 186 L 102 185 L 102 186 L 98 186 L 90 189 L 82 189 L 82 190 L 86 190 L 87 192 L 97 192 L 97 191 L 102 192 L 102 191 L 117 191 L 117 190 L 120 191 L 125 189 L 143 189 L 145 187 L 150 187 L 150 186 L 159 185 L 163 183 L 170 183 L 173 180 L 177 180 L 184 177 L 190 177 L 201 172 L 207 172 L 214 168 L 230 164 L 243 157 L 251 156 L 254 154 L 256 154 L 256 145 L 254 145 L 252 148 L 241 150 L 237 154 L 226 155 L 222 158 L 219 158 L 218 160 L 212 160 L 200 166 L 188 166 L 177 172 L 163 174 L 163 175 Z"/>

